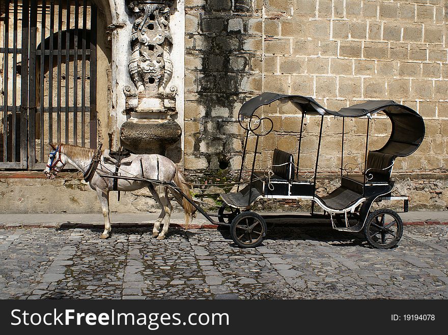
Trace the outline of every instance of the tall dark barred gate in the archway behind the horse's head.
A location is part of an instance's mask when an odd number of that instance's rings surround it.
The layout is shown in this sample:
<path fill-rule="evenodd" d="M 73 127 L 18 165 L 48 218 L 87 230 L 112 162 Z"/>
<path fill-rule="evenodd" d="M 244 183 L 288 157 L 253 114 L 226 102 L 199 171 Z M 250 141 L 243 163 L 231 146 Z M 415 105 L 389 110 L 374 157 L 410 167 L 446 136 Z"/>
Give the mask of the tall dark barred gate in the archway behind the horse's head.
<path fill-rule="evenodd" d="M 96 11 L 0 1 L 0 168 L 42 169 L 47 143 L 96 147 Z"/>

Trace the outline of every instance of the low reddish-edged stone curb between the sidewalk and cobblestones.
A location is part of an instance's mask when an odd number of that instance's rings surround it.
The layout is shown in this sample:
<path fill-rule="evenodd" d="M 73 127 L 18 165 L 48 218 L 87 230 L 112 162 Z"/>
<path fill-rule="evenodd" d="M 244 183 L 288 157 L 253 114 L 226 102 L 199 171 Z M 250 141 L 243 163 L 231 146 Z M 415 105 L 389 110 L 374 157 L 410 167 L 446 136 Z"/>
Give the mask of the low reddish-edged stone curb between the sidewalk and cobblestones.
<path fill-rule="evenodd" d="M 282 226 L 293 227 L 293 226 L 301 226 L 297 223 L 282 223 Z M 309 224 L 304 224 L 309 225 Z M 403 222 L 405 226 L 431 226 L 431 225 L 448 225 L 446 221 L 410 221 Z M 111 226 L 113 228 L 148 228 L 153 227 L 152 223 L 112 223 Z M 44 224 L 24 224 L 24 223 L 7 223 L 0 224 L 0 229 L 16 229 L 16 228 L 55 228 L 55 229 L 75 229 L 75 228 L 101 228 L 104 227 L 104 224 L 93 224 L 93 223 L 44 223 Z M 170 227 L 172 228 L 185 228 L 184 223 L 171 223 Z M 188 229 L 217 229 L 218 225 L 213 225 L 209 223 L 205 224 L 189 224 Z"/>

